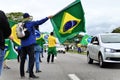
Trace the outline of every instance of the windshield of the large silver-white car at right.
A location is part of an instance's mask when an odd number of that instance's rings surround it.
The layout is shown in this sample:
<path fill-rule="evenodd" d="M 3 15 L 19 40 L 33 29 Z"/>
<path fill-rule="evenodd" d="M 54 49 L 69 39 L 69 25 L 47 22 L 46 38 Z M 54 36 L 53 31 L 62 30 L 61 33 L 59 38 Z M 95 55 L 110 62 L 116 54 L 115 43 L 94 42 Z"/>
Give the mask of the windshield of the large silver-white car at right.
<path fill-rule="evenodd" d="M 101 35 L 103 43 L 120 43 L 120 35 Z"/>

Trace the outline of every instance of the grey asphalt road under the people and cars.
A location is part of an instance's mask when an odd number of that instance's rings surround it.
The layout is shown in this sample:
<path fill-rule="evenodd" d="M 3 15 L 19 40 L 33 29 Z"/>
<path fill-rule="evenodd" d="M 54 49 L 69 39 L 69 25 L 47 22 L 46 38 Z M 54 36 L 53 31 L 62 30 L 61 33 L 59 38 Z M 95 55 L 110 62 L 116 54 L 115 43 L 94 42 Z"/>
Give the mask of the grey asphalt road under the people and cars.
<path fill-rule="evenodd" d="M 45 53 L 41 63 L 42 72 L 35 73 L 40 78 L 35 80 L 120 80 L 120 64 L 100 68 L 97 62 L 87 64 L 86 55 L 71 53 L 60 53 L 54 63 L 48 64 L 46 57 Z M 20 78 L 17 60 L 7 61 L 7 64 L 11 69 L 4 69 L 0 80 L 29 80 L 28 73 L 25 79 Z"/>

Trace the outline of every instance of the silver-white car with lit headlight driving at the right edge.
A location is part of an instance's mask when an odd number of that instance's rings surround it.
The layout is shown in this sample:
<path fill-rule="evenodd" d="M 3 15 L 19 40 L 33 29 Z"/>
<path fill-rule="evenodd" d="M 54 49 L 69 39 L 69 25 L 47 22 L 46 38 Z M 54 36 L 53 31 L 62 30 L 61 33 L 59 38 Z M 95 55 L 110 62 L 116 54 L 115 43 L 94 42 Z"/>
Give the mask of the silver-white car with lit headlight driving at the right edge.
<path fill-rule="evenodd" d="M 120 33 L 104 33 L 94 36 L 87 46 L 87 61 L 98 61 L 100 67 L 106 63 L 120 63 Z"/>

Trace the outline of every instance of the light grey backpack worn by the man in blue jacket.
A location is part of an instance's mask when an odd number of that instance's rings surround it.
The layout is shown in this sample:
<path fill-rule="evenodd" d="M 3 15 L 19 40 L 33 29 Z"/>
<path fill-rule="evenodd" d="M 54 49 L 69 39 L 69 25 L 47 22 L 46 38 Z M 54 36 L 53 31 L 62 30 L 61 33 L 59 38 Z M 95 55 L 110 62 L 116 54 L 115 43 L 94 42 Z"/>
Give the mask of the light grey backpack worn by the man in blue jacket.
<path fill-rule="evenodd" d="M 30 32 L 25 27 L 25 23 L 20 22 L 20 23 L 17 24 L 17 26 L 16 26 L 16 35 L 17 35 L 18 39 L 22 39 L 22 40 L 29 37 Z"/>

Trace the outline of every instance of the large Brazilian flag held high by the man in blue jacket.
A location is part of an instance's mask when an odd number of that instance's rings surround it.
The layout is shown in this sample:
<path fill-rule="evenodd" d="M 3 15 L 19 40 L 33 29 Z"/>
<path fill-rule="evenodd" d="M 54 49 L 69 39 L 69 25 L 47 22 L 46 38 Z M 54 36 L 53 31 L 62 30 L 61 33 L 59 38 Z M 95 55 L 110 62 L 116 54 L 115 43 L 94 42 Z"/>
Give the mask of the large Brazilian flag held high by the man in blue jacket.
<path fill-rule="evenodd" d="M 51 18 L 54 32 L 60 43 L 85 32 L 84 11 L 80 0 L 76 0 Z"/>

